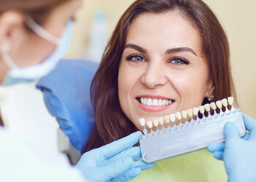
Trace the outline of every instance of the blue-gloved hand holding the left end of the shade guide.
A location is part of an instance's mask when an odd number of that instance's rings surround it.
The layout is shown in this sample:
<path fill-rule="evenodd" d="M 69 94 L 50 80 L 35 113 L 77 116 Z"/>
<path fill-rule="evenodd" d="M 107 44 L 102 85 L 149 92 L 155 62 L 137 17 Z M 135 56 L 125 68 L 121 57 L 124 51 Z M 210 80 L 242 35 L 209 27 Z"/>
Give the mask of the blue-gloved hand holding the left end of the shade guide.
<path fill-rule="evenodd" d="M 134 132 L 118 141 L 88 151 L 83 154 L 76 167 L 89 182 L 129 181 L 139 175 L 141 170 L 154 166 L 142 160 L 134 161 L 141 157 L 141 152 L 140 146 L 132 146 L 138 143 L 141 135 L 141 132 Z"/>

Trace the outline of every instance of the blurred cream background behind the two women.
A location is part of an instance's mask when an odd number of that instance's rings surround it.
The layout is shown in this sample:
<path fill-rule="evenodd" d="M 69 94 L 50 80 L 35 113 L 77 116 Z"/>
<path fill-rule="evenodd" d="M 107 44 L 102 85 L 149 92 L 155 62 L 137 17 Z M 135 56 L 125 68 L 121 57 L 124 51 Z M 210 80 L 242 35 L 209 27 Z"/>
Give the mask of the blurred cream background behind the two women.
<path fill-rule="evenodd" d="M 99 62 L 119 17 L 134 0 L 85 0 L 66 58 Z M 157 0 L 156 0 L 157 1 Z M 256 119 L 256 1 L 204 0 L 224 27 L 239 107 Z"/>

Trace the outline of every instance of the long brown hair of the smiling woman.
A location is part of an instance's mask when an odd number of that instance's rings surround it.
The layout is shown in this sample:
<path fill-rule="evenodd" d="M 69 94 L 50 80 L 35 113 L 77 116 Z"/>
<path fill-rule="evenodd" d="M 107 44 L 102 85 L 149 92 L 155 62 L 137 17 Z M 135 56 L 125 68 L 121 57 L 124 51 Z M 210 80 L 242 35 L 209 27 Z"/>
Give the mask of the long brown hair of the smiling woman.
<path fill-rule="evenodd" d="M 118 100 L 118 67 L 129 25 L 145 12 L 178 12 L 200 32 L 203 55 L 214 82 L 214 100 L 233 93 L 230 50 L 225 31 L 211 9 L 200 0 L 137 0 L 121 16 L 91 83 L 91 102 L 95 111 L 94 130 L 84 151 L 97 148 L 138 130 L 121 110 Z M 195 82 L 196 83 L 196 82 Z M 205 99 L 203 103 L 207 103 Z"/>

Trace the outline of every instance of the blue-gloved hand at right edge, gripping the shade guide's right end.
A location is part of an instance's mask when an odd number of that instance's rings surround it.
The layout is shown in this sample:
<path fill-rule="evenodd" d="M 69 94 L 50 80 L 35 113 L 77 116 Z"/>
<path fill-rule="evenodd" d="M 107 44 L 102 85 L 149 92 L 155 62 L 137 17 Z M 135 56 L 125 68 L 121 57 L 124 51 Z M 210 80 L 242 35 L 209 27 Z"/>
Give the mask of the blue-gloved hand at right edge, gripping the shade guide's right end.
<path fill-rule="evenodd" d="M 243 114 L 246 132 L 240 138 L 238 127 L 227 122 L 224 127 L 225 143 L 207 146 L 216 159 L 223 160 L 229 181 L 256 181 L 256 120 Z"/>

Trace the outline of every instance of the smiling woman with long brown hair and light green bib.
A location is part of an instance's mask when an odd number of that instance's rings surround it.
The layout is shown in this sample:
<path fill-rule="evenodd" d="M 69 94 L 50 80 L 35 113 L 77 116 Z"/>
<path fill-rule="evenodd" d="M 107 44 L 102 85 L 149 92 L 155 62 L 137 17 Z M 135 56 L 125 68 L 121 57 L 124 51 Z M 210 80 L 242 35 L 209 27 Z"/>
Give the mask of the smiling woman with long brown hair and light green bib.
<path fill-rule="evenodd" d="M 86 151 L 143 130 L 141 117 L 235 96 L 227 37 L 203 1 L 135 1 L 116 25 L 91 86 L 96 121 Z M 227 178 L 204 150 L 157 162 L 143 174 L 140 181 L 149 174 L 163 181 Z"/>

